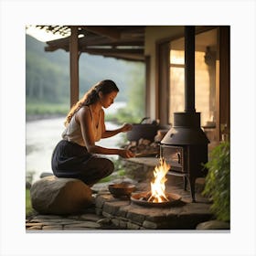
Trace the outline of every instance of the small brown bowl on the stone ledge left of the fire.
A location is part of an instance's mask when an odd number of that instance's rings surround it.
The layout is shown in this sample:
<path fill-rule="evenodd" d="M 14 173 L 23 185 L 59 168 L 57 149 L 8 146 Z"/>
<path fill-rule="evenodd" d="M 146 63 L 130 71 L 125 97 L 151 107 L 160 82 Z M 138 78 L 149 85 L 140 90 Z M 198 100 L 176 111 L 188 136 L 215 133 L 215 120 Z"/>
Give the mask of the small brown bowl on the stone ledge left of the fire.
<path fill-rule="evenodd" d="M 135 188 L 135 185 L 128 182 L 109 185 L 109 191 L 113 197 L 130 197 Z"/>

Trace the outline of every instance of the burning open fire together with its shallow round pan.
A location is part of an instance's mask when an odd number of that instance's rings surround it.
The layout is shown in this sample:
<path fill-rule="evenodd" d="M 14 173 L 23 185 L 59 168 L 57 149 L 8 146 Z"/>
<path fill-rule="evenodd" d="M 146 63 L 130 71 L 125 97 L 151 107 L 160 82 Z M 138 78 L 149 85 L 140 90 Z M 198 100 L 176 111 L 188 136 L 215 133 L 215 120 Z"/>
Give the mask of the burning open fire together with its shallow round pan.
<path fill-rule="evenodd" d="M 165 193 L 165 175 L 170 169 L 164 158 L 160 158 L 159 165 L 155 166 L 154 179 L 151 182 L 151 191 L 133 193 L 131 200 L 133 203 L 149 207 L 165 207 L 174 205 L 181 199 L 179 195 Z"/>

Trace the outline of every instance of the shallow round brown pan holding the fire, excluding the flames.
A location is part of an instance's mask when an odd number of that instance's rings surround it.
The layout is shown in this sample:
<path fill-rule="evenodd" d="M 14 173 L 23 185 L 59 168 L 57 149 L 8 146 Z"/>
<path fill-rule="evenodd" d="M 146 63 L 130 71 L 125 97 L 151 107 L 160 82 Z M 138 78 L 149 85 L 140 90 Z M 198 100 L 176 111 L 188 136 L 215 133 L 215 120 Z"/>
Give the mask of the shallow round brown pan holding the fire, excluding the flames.
<path fill-rule="evenodd" d="M 154 203 L 154 202 L 148 202 L 144 199 L 146 197 L 148 192 L 139 192 L 139 193 L 133 193 L 131 196 L 131 201 L 134 204 L 144 206 L 144 207 L 170 207 L 175 206 L 176 203 L 180 202 L 181 197 L 174 193 L 165 193 L 166 197 L 169 199 L 169 201 L 161 202 L 161 203 Z"/>

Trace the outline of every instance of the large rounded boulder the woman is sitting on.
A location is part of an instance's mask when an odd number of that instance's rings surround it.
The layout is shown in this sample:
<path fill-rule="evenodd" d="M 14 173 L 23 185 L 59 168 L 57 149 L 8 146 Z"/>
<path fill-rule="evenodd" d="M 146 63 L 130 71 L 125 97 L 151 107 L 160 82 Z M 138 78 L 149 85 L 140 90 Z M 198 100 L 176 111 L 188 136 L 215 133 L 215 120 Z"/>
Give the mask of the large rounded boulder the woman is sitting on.
<path fill-rule="evenodd" d="M 91 206 L 91 188 L 75 178 L 46 176 L 31 189 L 31 204 L 42 214 L 73 214 Z"/>

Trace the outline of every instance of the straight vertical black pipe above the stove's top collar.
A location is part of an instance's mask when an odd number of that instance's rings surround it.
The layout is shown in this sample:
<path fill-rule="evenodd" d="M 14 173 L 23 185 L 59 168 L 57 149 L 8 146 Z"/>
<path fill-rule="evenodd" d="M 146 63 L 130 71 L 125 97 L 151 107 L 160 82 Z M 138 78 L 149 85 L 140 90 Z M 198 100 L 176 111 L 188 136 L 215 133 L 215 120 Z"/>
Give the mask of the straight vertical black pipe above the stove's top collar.
<path fill-rule="evenodd" d="M 196 112 L 195 26 L 185 27 L 185 112 Z"/>

